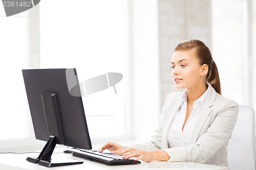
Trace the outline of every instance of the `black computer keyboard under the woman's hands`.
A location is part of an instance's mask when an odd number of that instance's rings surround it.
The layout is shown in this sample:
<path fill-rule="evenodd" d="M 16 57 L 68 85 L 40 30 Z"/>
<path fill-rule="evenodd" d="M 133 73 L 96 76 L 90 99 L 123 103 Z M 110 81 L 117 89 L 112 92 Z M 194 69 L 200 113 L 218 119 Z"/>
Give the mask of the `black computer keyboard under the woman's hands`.
<path fill-rule="evenodd" d="M 84 150 L 76 148 L 68 148 L 67 152 L 72 153 L 74 156 L 79 156 L 90 161 L 106 164 L 106 165 L 128 165 L 138 164 L 140 161 L 133 159 L 124 159 L 121 155 L 115 155 L 110 153 L 100 153 L 93 150 Z"/>

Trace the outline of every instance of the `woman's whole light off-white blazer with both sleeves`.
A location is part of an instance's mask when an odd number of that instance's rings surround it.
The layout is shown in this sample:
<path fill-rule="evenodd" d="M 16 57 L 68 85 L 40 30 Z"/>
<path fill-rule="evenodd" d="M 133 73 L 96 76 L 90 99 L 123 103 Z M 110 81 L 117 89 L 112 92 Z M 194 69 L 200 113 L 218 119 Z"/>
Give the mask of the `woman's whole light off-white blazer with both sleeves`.
<path fill-rule="evenodd" d="M 179 109 L 181 92 L 170 92 L 164 101 L 158 128 L 150 142 L 130 147 L 142 150 L 163 149 L 169 161 L 187 161 L 227 166 L 227 145 L 237 122 L 239 106 L 224 98 L 212 87 L 198 113 L 190 144 L 186 147 L 168 148 L 168 132 Z"/>

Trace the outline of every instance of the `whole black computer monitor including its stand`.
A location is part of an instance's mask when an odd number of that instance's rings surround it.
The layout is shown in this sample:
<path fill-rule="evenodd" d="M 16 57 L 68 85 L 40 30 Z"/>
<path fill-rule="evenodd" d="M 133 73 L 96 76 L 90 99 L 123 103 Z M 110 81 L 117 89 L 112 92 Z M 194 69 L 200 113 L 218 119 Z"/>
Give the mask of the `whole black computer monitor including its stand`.
<path fill-rule="evenodd" d="M 81 149 L 92 149 L 81 95 L 70 94 L 69 84 L 76 85 L 73 93 L 80 93 L 76 68 L 23 69 L 35 137 L 48 141 L 37 158 L 28 161 L 44 166 L 77 164 L 80 162 L 51 163 L 56 144 Z"/>

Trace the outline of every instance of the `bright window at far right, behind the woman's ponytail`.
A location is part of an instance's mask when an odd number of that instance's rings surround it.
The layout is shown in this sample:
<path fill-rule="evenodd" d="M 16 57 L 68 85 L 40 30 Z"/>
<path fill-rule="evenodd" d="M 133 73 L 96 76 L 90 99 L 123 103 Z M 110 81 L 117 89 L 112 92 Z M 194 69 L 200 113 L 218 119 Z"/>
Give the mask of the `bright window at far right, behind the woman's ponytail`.
<path fill-rule="evenodd" d="M 211 1 L 212 56 L 219 69 L 223 95 L 248 105 L 248 27 L 245 0 Z M 249 42 L 250 43 L 250 42 Z"/>

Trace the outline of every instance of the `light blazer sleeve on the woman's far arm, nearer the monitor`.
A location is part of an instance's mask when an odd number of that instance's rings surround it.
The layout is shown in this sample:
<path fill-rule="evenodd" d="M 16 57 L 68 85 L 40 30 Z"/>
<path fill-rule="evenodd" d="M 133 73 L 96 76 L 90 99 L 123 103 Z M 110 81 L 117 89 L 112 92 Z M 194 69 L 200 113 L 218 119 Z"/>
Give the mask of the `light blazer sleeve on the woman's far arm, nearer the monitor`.
<path fill-rule="evenodd" d="M 141 150 L 159 150 L 159 149 L 161 149 L 164 117 L 165 117 L 166 109 L 168 109 L 170 100 L 172 100 L 171 94 L 172 94 L 172 92 L 169 92 L 166 95 L 166 98 L 164 100 L 164 105 L 162 108 L 162 112 L 159 117 L 158 126 L 157 126 L 157 129 L 155 130 L 154 135 L 152 135 L 151 140 L 149 142 L 142 143 L 142 144 L 132 144 L 132 145 L 129 145 L 129 147 L 137 148 L 137 149 L 141 149 Z"/>

